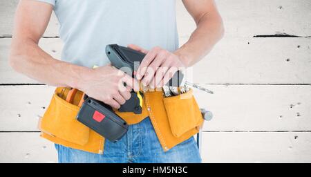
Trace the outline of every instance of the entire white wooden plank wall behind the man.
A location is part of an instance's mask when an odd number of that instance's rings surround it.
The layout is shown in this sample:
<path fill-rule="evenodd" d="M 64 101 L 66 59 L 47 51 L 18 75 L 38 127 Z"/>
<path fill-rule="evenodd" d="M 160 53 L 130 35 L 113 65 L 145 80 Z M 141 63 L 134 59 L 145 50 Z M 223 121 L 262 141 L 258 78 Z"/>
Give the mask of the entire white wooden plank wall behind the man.
<path fill-rule="evenodd" d="M 311 162 L 311 1 L 216 0 L 225 37 L 194 66 L 195 90 L 214 118 L 203 128 L 204 162 Z M 0 162 L 57 162 L 37 118 L 53 93 L 8 66 L 17 0 L 0 1 Z M 180 44 L 195 25 L 177 0 Z M 53 15 L 40 46 L 59 58 Z"/>

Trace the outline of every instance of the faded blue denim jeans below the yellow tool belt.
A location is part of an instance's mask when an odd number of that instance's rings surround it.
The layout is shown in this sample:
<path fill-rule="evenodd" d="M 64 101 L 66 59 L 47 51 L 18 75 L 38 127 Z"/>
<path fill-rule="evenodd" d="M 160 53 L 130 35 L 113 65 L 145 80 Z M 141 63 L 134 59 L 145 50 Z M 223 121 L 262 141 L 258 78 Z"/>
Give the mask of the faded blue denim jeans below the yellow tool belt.
<path fill-rule="evenodd" d="M 55 144 L 59 162 L 201 162 L 194 137 L 164 152 L 149 118 L 131 124 L 118 142 L 105 141 L 104 153 L 89 153 Z"/>

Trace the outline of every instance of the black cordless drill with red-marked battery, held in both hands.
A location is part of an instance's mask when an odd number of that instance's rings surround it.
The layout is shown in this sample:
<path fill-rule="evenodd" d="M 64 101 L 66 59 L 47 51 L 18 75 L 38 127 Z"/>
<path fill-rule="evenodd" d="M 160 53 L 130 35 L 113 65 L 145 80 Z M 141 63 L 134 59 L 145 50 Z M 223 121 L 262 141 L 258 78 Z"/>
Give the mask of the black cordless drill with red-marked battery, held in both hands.
<path fill-rule="evenodd" d="M 145 56 L 144 53 L 117 44 L 107 45 L 106 55 L 112 66 L 132 77 L 135 77 L 135 71 Z M 179 72 L 173 78 L 178 74 Z M 171 81 L 168 84 L 171 84 Z M 143 94 L 140 91 L 131 91 L 131 98 L 126 100 L 118 111 L 140 114 L 142 113 L 142 99 Z M 125 120 L 113 112 L 111 106 L 87 95 L 84 95 L 84 102 L 77 114 L 77 120 L 113 142 L 120 140 L 129 127 Z"/>

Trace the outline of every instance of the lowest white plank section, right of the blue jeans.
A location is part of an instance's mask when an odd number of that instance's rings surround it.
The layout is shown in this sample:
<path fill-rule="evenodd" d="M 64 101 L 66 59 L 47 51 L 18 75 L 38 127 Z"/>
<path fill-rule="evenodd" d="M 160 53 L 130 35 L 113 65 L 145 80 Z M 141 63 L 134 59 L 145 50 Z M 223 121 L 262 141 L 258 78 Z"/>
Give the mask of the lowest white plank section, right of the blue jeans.
<path fill-rule="evenodd" d="M 311 133 L 204 133 L 203 162 L 311 162 Z"/>

